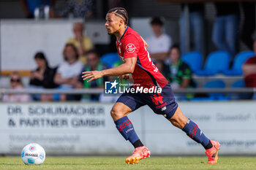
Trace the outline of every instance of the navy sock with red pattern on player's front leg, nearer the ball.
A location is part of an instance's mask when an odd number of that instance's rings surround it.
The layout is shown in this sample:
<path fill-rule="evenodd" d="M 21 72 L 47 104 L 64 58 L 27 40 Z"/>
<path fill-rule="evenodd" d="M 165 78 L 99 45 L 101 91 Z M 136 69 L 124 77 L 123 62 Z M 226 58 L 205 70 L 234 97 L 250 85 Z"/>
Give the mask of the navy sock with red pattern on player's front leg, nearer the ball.
<path fill-rule="evenodd" d="M 127 116 L 121 117 L 120 119 L 116 120 L 115 124 L 120 134 L 124 136 L 124 139 L 129 140 L 129 142 L 131 142 L 135 147 L 142 144 L 139 140 L 138 135 L 135 132 L 135 128 L 133 128 L 132 122 Z M 141 144 L 138 144 L 138 141 Z"/>

